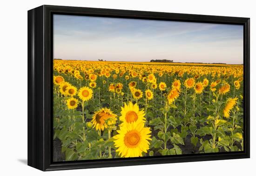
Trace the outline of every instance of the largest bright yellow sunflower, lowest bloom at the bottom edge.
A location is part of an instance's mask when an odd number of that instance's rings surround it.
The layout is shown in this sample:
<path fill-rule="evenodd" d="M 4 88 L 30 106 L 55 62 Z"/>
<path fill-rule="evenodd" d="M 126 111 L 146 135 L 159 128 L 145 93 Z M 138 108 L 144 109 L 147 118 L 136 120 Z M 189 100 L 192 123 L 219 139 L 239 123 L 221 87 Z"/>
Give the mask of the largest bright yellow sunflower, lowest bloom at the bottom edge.
<path fill-rule="evenodd" d="M 148 152 L 151 131 L 149 127 L 144 127 L 143 123 L 120 126 L 117 132 L 113 138 L 116 152 L 121 157 L 142 157 L 142 152 Z"/>

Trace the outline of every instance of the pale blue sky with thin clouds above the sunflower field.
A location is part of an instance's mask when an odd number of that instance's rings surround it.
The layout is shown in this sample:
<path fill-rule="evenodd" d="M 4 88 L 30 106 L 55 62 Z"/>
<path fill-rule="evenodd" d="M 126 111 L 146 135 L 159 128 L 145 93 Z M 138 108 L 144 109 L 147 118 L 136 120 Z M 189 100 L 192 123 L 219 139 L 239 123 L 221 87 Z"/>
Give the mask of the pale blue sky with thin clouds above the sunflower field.
<path fill-rule="evenodd" d="M 243 25 L 55 14 L 54 58 L 243 64 Z"/>

